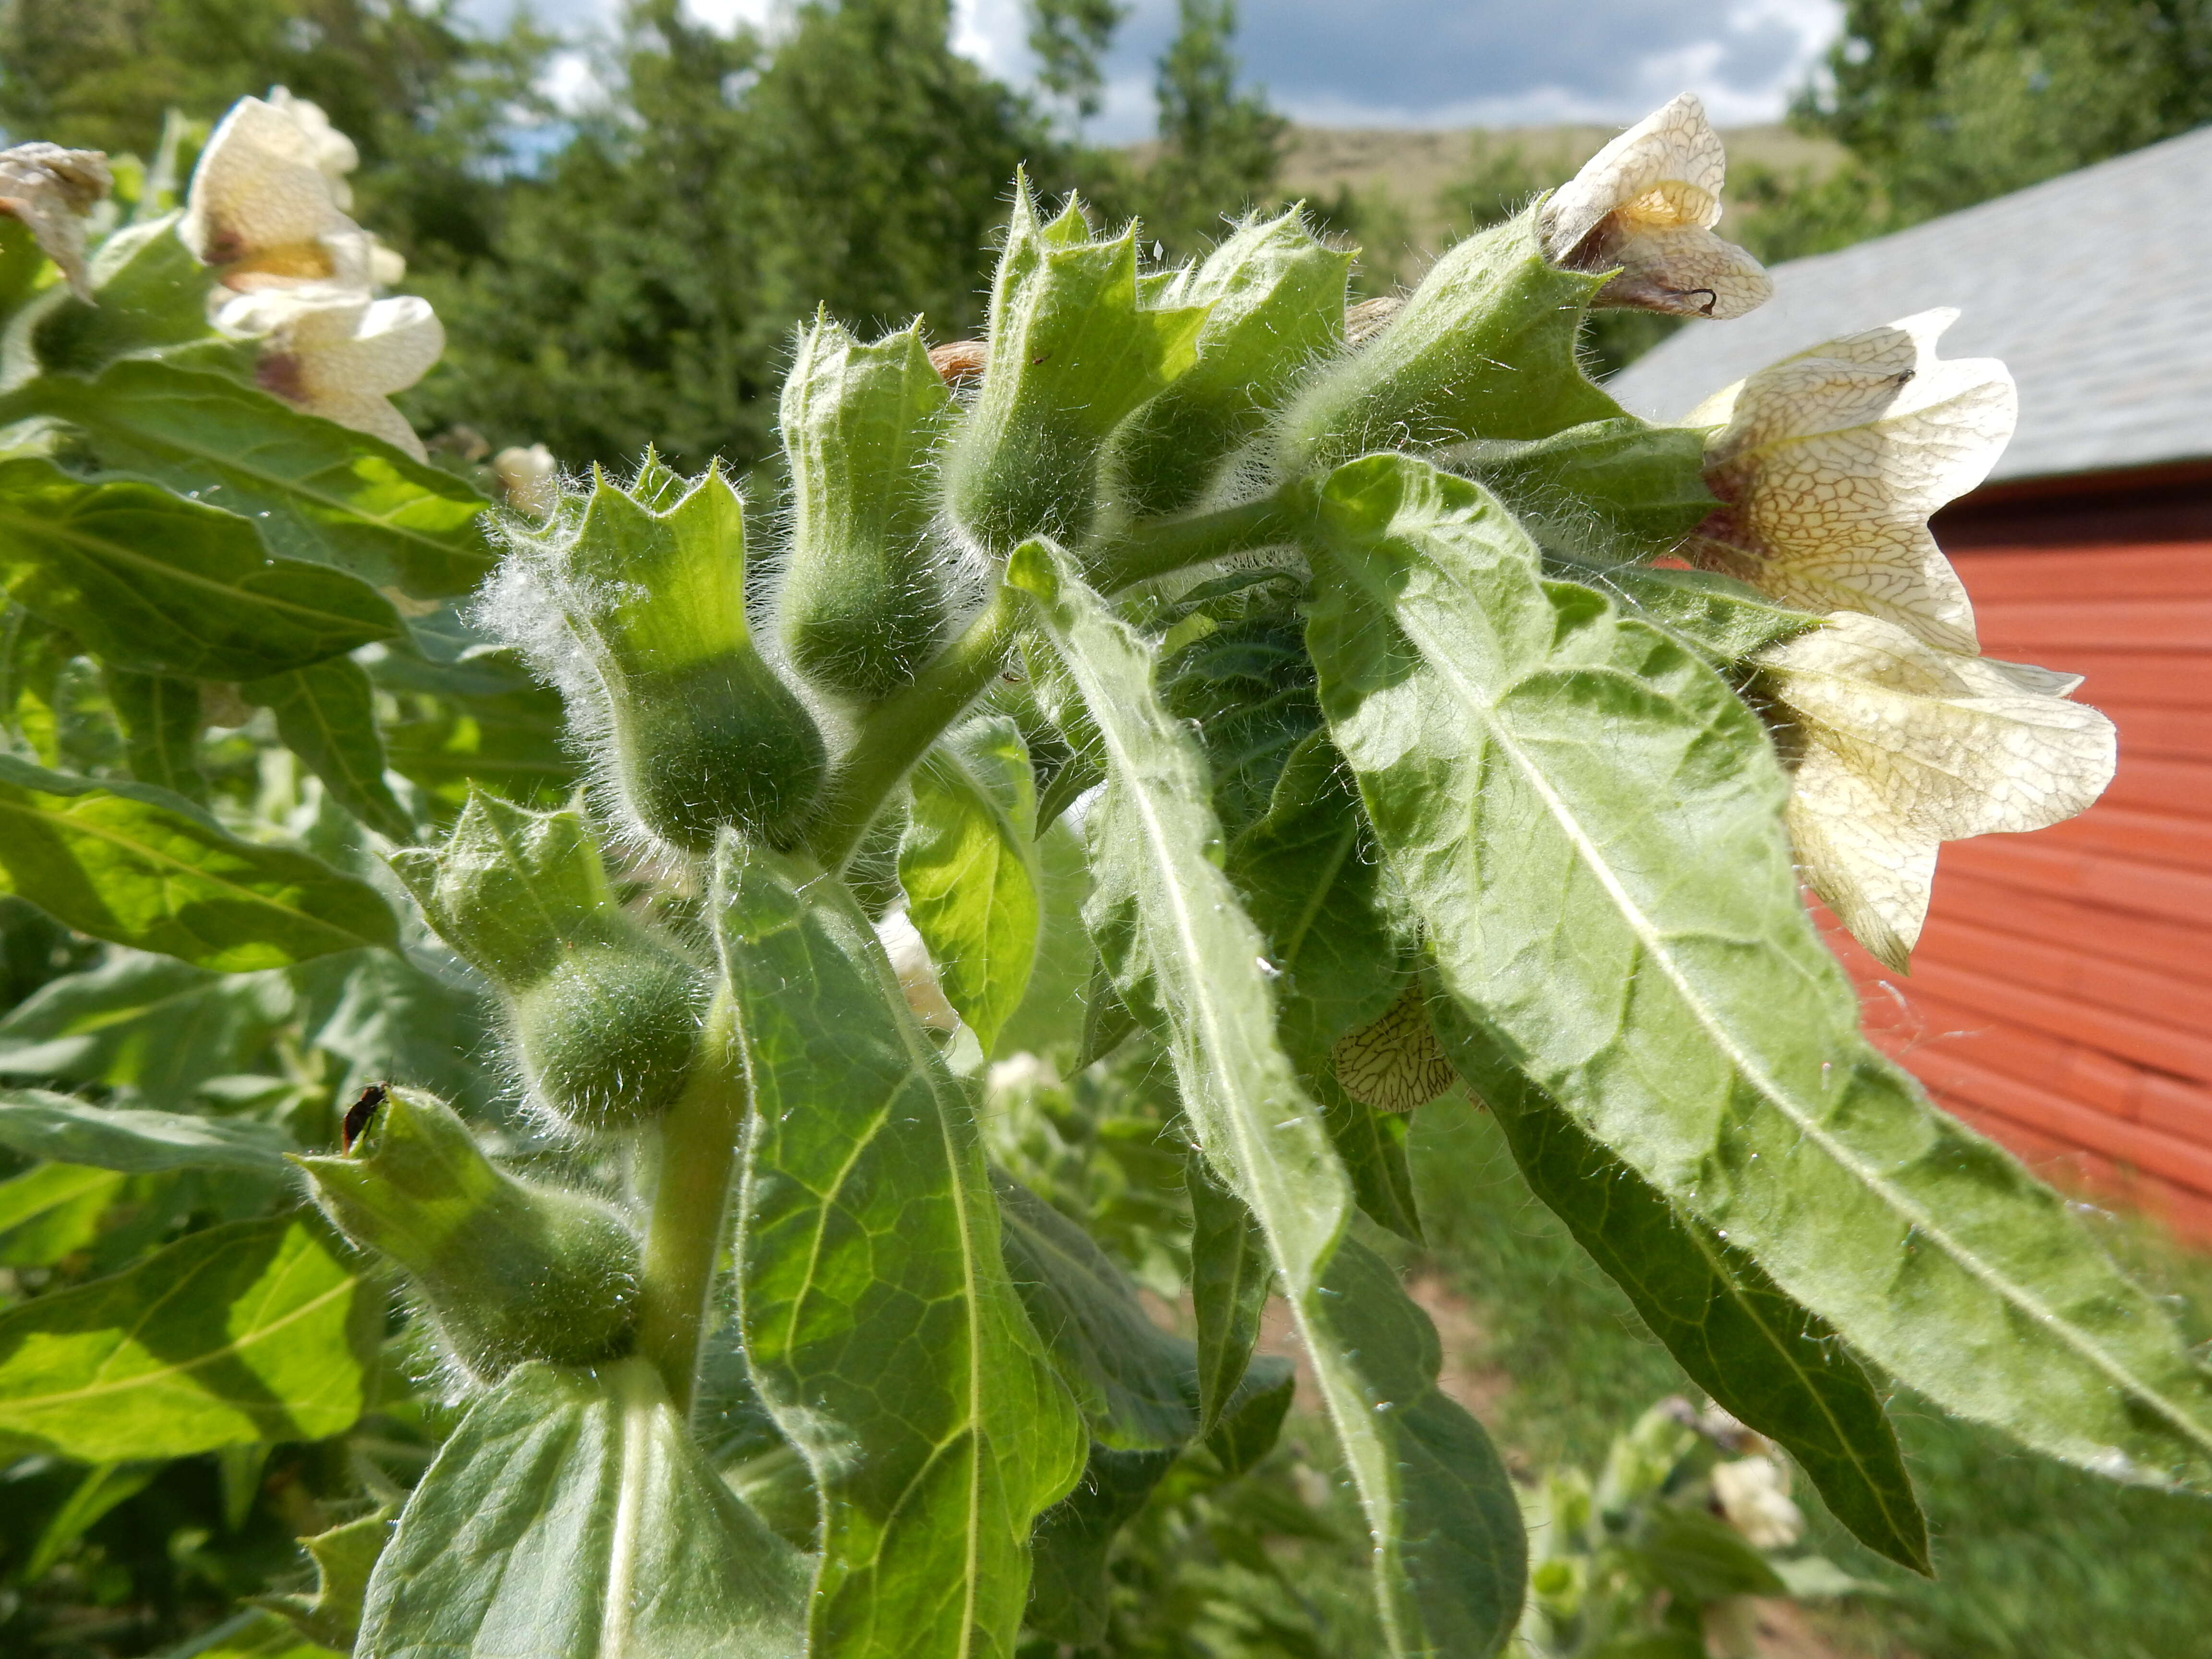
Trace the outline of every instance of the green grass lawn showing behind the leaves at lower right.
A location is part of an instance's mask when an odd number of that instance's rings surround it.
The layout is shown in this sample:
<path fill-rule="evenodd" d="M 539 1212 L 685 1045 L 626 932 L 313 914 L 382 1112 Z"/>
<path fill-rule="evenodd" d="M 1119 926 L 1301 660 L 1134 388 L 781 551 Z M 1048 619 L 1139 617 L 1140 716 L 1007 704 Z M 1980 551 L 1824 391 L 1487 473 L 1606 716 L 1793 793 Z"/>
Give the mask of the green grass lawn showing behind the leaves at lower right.
<path fill-rule="evenodd" d="M 1413 1133 L 1431 1263 L 1482 1327 L 1475 1356 L 1513 1378 L 1493 1429 L 1520 1467 L 1593 1467 L 1666 1394 L 1694 1394 L 1628 1301 L 1522 1186 L 1489 1117 L 1438 1104 Z M 2212 1263 L 2115 1228 L 2161 1290 L 2212 1310 Z M 1812 1542 L 1876 1579 L 1849 1617 L 1871 1655 L 1918 1659 L 2212 1659 L 2212 1500 L 2117 1486 L 1891 1400 L 1936 1533 L 1936 1582 L 1858 1548 L 1801 1493 Z"/>

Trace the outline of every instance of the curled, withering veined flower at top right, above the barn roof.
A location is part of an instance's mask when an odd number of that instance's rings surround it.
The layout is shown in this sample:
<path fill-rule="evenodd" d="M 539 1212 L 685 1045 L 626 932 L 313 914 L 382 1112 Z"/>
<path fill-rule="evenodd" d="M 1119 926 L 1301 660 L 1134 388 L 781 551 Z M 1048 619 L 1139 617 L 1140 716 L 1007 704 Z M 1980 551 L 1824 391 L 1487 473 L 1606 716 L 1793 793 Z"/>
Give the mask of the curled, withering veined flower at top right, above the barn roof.
<path fill-rule="evenodd" d="M 1568 270 L 1619 270 L 1597 305 L 1743 316 L 1765 305 L 1765 268 L 1712 234 L 1728 155 L 1683 93 L 1630 126 L 1537 210 L 1544 252 Z"/>

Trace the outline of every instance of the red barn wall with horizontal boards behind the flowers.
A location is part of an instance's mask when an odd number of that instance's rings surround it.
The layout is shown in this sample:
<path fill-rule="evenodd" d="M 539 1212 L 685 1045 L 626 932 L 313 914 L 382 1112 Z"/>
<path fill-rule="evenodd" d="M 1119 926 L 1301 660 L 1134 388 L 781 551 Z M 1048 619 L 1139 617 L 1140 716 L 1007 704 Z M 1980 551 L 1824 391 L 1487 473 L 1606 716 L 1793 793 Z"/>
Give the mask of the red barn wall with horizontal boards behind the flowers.
<path fill-rule="evenodd" d="M 1936 529 L 1982 650 L 2086 675 L 2119 772 L 2070 823 L 1947 843 L 1911 975 L 1832 940 L 1940 1104 L 2212 1243 L 2212 467 L 1989 491 Z"/>

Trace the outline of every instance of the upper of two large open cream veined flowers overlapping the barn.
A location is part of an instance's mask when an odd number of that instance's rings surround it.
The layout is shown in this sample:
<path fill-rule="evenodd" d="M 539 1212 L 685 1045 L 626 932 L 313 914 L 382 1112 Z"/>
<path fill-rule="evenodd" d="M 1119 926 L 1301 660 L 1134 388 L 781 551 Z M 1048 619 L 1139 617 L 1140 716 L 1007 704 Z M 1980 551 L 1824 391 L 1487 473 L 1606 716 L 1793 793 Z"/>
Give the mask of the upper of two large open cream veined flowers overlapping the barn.
<path fill-rule="evenodd" d="M 1717 392 L 1705 484 L 1725 507 L 1683 549 L 1805 611 L 1863 611 L 1975 653 L 1973 606 L 1929 515 L 1997 462 L 2020 398 L 1995 358 L 1938 358 L 1958 312 L 1814 345 Z"/>

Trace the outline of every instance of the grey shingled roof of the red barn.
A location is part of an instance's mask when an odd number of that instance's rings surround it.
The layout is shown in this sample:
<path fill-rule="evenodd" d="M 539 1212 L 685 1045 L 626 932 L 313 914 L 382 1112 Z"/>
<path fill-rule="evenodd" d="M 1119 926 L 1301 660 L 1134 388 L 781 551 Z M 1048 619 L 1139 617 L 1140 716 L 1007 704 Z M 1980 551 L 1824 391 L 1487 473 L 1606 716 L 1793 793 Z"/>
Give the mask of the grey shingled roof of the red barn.
<path fill-rule="evenodd" d="M 1772 301 L 1688 323 L 1610 392 L 1674 420 L 1776 358 L 1933 305 L 1960 312 L 1942 356 L 2004 358 L 2020 383 L 1991 478 L 2212 456 L 2212 126 L 1776 265 Z"/>

